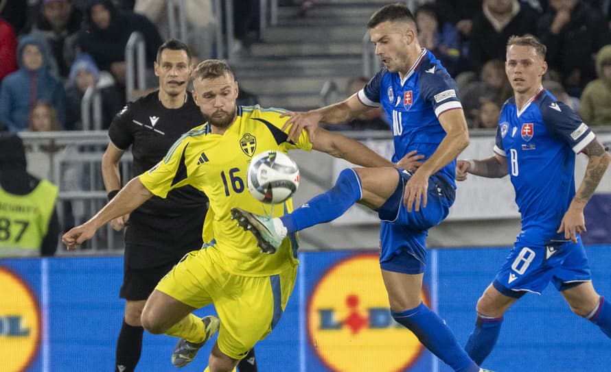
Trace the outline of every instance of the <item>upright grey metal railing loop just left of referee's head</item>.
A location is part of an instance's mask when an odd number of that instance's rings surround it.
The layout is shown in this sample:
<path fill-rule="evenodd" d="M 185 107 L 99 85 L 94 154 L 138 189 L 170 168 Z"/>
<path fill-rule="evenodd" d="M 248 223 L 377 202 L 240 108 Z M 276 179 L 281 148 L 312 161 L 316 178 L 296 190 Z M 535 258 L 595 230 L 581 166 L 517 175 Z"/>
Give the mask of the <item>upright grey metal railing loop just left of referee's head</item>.
<path fill-rule="evenodd" d="M 140 32 L 132 32 L 125 46 L 125 97 L 131 101 L 137 88 L 146 88 L 146 46 L 144 36 Z"/>

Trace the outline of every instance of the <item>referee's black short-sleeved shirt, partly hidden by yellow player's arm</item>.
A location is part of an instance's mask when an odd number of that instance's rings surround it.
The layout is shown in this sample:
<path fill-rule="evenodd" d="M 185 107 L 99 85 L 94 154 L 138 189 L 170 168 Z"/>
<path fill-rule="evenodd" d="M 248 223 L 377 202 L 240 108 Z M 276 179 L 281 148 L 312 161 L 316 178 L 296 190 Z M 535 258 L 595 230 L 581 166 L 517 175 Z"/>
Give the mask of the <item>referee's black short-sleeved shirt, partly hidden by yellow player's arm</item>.
<path fill-rule="evenodd" d="M 139 175 L 161 161 L 183 133 L 205 121 L 190 92 L 181 108 L 169 109 L 159 101 L 156 90 L 128 103 L 113 119 L 108 136 L 119 149 L 131 146 L 135 175 Z M 126 228 L 126 264 L 161 266 L 199 249 L 207 207 L 207 197 L 192 186 L 143 203 L 132 212 Z"/>

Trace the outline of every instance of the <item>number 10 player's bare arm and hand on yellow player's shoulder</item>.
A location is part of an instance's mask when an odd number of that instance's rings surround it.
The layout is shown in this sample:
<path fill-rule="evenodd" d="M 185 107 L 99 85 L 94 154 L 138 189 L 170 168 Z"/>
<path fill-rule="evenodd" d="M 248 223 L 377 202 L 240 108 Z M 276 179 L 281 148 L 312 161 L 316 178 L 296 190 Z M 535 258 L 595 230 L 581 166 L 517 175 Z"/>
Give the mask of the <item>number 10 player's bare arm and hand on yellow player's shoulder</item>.
<path fill-rule="evenodd" d="M 286 114 L 282 114 L 281 117 L 290 116 L 288 121 L 284 123 L 282 130 L 286 130 L 290 127 L 288 138 L 297 141 L 299 139 L 299 134 L 305 129 L 310 136 L 310 142 L 314 142 L 316 127 L 318 127 L 319 123 L 330 125 L 346 123 L 367 110 L 369 110 L 369 108 L 360 103 L 356 94 L 354 94 L 345 101 L 334 103 L 333 105 L 316 110 L 307 112 L 287 112 Z"/>

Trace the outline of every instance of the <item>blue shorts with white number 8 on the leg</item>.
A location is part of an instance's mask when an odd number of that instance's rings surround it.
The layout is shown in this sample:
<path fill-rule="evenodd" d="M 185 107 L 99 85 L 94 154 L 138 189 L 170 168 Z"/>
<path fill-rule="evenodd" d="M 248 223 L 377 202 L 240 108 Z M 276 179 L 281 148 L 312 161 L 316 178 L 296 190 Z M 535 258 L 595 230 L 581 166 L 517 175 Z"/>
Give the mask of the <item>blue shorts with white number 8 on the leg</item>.
<path fill-rule="evenodd" d="M 492 285 L 503 295 L 520 298 L 527 292 L 540 295 L 550 281 L 562 291 L 590 280 L 588 256 L 578 236 L 577 243 L 526 245 L 518 240 Z"/>

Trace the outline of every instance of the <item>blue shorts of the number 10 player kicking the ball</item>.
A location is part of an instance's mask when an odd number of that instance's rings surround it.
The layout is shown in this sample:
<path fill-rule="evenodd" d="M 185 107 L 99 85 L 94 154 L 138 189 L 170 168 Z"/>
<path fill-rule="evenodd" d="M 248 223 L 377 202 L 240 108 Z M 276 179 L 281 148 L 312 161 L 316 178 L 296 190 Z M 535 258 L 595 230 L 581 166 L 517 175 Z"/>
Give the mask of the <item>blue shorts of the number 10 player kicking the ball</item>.
<path fill-rule="evenodd" d="M 400 174 L 395 192 L 378 209 L 380 226 L 380 266 L 384 270 L 417 274 L 426 264 L 426 236 L 428 229 L 439 225 L 448 216 L 454 203 L 454 187 L 438 175 L 428 179 L 426 208 L 407 212 L 403 206 L 405 184 L 413 173 L 397 170 Z M 408 261 L 413 261 L 408 263 Z M 402 270 L 401 268 L 404 267 Z"/>

